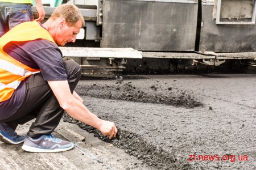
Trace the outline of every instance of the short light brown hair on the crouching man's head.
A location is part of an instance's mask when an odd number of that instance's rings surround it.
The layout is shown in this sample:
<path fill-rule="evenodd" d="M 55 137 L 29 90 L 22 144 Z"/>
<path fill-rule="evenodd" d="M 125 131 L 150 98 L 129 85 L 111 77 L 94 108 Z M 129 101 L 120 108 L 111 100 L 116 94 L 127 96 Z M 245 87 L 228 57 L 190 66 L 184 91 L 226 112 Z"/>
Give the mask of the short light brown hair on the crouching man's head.
<path fill-rule="evenodd" d="M 81 21 L 82 27 L 85 26 L 84 16 L 82 16 L 78 7 L 72 4 L 63 4 L 57 7 L 49 19 L 64 18 L 67 23 L 71 25 L 75 24 L 77 21 Z"/>

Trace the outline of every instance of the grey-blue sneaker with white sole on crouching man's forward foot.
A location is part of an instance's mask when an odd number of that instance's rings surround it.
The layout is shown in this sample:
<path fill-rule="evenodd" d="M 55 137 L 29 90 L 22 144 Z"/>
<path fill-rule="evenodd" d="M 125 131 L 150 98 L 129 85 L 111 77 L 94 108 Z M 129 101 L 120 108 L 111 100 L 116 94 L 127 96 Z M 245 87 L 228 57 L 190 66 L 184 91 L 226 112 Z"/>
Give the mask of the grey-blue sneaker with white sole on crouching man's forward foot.
<path fill-rule="evenodd" d="M 45 134 L 37 139 L 26 136 L 22 149 L 28 152 L 63 152 L 71 150 L 74 143 Z"/>

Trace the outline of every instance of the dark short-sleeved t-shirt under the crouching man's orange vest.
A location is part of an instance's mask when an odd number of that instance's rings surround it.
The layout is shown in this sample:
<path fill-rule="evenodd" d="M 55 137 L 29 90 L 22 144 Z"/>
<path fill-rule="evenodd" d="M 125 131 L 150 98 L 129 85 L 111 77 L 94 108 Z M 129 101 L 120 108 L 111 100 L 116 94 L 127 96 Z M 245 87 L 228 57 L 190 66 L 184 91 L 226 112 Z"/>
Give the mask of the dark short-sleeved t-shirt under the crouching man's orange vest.
<path fill-rule="evenodd" d="M 9 42 L 3 50 L 24 65 L 40 69 L 44 80 L 67 80 L 62 54 L 59 48 L 48 40 Z M 13 96 L 0 103 L 0 120 L 14 114 L 23 102 L 26 92 L 24 81 L 20 83 Z"/>

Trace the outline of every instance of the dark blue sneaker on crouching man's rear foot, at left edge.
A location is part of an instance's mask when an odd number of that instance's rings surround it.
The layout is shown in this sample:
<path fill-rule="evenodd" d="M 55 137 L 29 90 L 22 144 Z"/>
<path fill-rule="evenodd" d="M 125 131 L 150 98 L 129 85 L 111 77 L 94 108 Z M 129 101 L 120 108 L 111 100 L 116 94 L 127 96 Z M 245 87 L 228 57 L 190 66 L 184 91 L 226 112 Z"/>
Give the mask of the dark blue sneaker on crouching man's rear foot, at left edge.
<path fill-rule="evenodd" d="M 17 145 L 24 142 L 25 137 L 18 135 L 13 129 L 7 124 L 0 123 L 0 141 Z"/>

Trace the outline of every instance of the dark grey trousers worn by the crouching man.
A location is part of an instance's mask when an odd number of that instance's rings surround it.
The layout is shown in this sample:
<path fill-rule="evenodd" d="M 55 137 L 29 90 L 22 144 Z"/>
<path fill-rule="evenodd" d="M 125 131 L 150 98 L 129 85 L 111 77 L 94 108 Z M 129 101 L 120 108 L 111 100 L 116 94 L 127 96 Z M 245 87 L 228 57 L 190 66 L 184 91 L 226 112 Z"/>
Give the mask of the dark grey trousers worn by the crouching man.
<path fill-rule="evenodd" d="M 71 92 L 75 90 L 81 77 L 81 67 L 73 60 L 64 61 Z M 61 87 L 60 87 L 61 88 Z M 36 118 L 30 126 L 27 135 L 38 138 L 42 134 L 49 134 L 59 125 L 64 110 L 60 107 L 55 95 L 41 73 L 31 75 L 26 79 L 26 95 L 23 104 L 6 122 L 12 129 L 19 124 Z"/>

